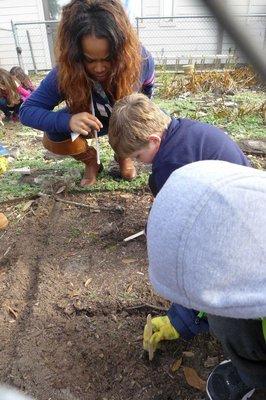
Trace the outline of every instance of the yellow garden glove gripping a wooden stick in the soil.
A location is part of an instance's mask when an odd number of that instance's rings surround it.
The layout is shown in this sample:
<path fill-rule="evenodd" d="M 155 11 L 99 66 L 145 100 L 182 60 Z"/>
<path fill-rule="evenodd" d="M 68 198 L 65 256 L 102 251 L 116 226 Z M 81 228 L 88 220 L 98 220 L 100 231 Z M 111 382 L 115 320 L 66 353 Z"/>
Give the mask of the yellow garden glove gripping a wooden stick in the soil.
<path fill-rule="evenodd" d="M 152 336 L 149 337 L 147 324 L 145 325 L 143 332 L 143 349 L 148 351 L 149 344 L 152 346 L 155 351 L 158 347 L 158 343 L 162 340 L 174 340 L 178 339 L 180 334 L 173 327 L 170 322 L 170 319 L 167 315 L 162 317 L 152 318 Z"/>

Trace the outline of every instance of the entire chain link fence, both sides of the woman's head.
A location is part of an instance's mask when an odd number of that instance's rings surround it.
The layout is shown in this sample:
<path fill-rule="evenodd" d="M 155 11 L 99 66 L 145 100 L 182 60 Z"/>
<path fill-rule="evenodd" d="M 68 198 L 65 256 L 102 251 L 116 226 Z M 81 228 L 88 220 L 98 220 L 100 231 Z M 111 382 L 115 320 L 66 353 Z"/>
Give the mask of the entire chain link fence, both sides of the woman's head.
<path fill-rule="evenodd" d="M 266 54 L 266 14 L 235 16 L 235 23 L 249 32 Z M 58 21 L 12 23 L 18 61 L 28 71 L 49 70 L 55 63 L 54 43 Z M 228 34 L 211 15 L 136 18 L 143 45 L 157 65 L 227 66 L 245 59 Z"/>

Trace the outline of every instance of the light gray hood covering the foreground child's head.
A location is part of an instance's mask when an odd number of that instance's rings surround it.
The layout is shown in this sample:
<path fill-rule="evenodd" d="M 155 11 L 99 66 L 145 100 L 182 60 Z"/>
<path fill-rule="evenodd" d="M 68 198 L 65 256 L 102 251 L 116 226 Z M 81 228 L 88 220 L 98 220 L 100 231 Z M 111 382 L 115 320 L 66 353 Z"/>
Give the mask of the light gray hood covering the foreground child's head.
<path fill-rule="evenodd" d="M 214 315 L 266 316 L 266 172 L 214 160 L 174 171 L 147 238 L 162 297 Z"/>

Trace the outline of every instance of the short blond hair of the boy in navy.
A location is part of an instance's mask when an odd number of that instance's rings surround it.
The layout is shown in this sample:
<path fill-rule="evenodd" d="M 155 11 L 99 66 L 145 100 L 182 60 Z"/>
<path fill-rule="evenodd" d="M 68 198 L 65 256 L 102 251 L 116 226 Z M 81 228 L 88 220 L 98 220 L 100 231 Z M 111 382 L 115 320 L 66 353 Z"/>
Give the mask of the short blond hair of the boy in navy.
<path fill-rule="evenodd" d="M 109 123 L 109 143 L 118 156 L 126 157 L 162 136 L 171 118 L 147 96 L 133 93 L 117 101 Z"/>

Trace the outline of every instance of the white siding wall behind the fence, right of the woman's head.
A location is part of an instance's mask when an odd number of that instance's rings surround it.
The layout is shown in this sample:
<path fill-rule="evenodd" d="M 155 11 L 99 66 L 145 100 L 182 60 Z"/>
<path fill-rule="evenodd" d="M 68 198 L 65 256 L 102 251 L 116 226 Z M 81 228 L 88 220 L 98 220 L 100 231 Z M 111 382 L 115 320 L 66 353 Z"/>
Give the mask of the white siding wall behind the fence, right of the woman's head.
<path fill-rule="evenodd" d="M 173 3 L 172 3 L 173 1 Z M 224 0 L 234 14 L 266 13 L 266 0 Z M 140 3 L 141 0 L 136 0 Z M 143 17 L 166 16 L 165 10 L 173 10 L 173 16 L 211 15 L 200 0 L 142 0 Z M 139 16 L 141 16 L 139 14 Z M 170 16 L 170 15 L 168 15 Z M 261 49 L 266 37 L 266 18 L 237 18 L 243 29 L 250 32 L 250 39 L 258 43 Z M 168 63 L 174 63 L 176 57 L 186 63 L 192 57 L 217 53 L 228 54 L 236 46 L 226 33 L 222 46 L 218 46 L 219 27 L 214 18 L 180 18 L 173 20 L 139 20 L 139 35 L 143 44 L 155 58 L 166 56 Z M 266 52 L 266 49 L 264 49 Z M 239 54 L 239 57 L 241 55 Z"/>

